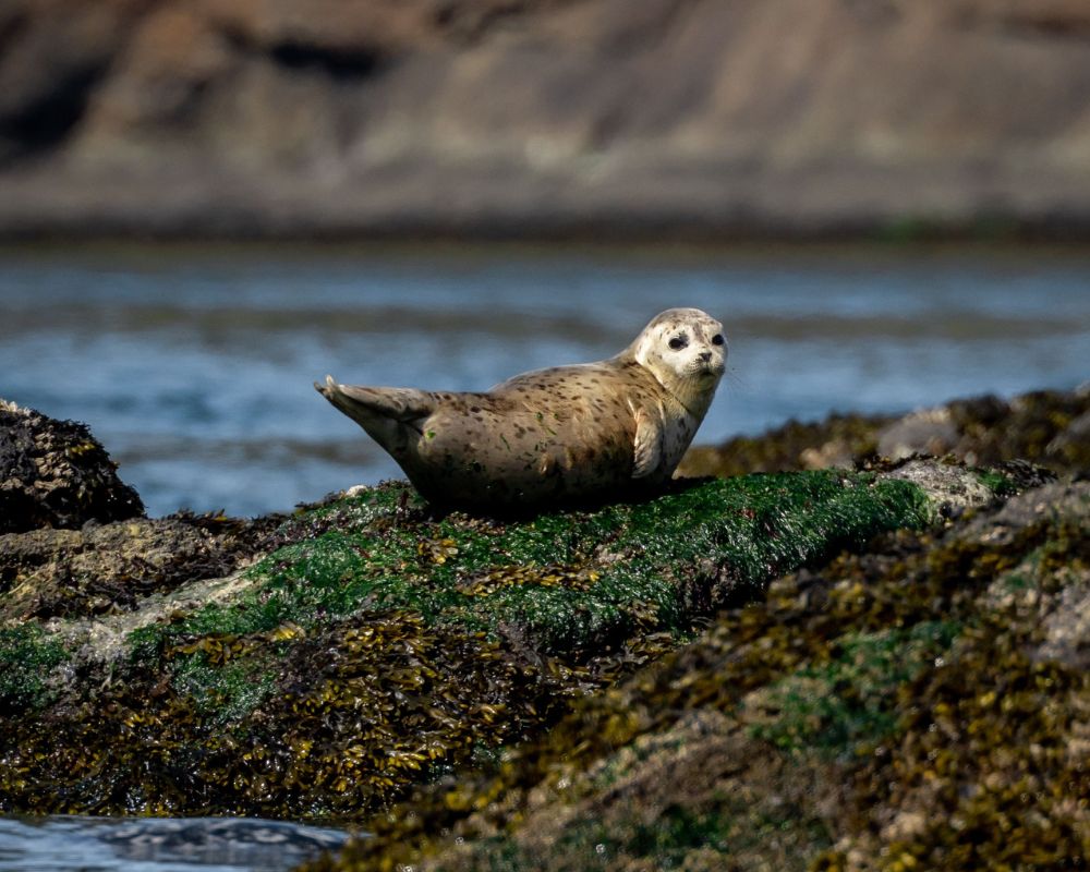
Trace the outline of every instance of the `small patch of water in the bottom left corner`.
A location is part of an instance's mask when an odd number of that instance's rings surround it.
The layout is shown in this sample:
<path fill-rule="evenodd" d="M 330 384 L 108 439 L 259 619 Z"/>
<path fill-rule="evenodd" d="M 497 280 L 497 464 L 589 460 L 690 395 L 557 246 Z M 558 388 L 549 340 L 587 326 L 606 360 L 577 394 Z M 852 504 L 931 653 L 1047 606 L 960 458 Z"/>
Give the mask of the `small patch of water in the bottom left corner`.
<path fill-rule="evenodd" d="M 347 838 L 228 818 L 0 819 L 0 872 L 287 872 Z"/>

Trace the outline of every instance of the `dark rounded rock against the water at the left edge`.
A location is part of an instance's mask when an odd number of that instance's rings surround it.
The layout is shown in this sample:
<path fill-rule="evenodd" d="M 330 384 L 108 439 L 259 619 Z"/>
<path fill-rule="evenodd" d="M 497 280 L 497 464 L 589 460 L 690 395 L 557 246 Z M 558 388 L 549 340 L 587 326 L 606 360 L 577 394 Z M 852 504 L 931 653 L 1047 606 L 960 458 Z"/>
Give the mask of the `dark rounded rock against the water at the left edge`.
<path fill-rule="evenodd" d="M 84 424 L 0 400 L 0 533 L 143 514 L 136 492 Z"/>

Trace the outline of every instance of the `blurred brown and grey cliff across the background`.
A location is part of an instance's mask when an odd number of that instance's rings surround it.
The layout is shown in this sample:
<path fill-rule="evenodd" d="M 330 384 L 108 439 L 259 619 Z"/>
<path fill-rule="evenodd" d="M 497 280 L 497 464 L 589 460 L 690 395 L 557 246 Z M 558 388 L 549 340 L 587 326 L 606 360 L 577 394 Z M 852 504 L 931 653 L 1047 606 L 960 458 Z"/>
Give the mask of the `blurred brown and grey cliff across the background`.
<path fill-rule="evenodd" d="M 1086 0 L 5 0 L 0 235 L 1090 237 Z"/>

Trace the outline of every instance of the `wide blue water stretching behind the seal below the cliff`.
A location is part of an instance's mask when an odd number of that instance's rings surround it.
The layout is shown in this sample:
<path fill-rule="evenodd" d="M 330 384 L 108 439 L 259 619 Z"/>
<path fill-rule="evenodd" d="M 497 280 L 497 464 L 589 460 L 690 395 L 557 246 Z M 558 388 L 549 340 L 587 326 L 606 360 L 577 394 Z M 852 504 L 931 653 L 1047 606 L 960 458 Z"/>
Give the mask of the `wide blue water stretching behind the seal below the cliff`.
<path fill-rule="evenodd" d="M 1073 388 L 1090 254 L 131 246 L 0 252 L 0 396 L 87 422 L 153 514 L 284 510 L 399 475 L 311 383 L 475 390 L 724 319 L 698 441 L 832 411 Z"/>

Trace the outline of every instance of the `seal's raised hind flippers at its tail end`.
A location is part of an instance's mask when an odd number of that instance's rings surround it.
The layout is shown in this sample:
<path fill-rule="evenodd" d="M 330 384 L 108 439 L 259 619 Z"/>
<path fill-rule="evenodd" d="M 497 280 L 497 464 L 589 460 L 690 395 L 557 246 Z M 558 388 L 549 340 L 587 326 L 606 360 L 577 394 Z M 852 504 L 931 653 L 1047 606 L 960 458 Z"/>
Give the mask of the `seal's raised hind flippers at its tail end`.
<path fill-rule="evenodd" d="M 423 422 L 435 411 L 434 396 L 415 388 L 338 385 L 328 375 L 325 385 L 314 387 L 395 457 L 421 435 Z"/>

